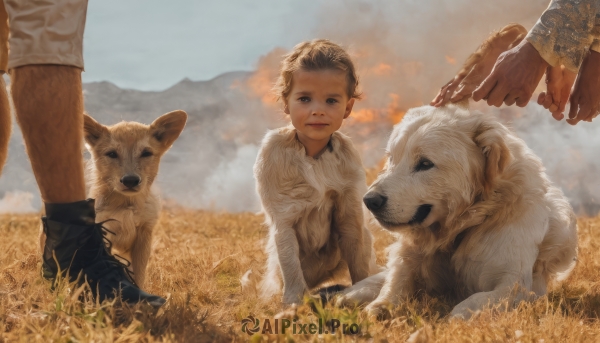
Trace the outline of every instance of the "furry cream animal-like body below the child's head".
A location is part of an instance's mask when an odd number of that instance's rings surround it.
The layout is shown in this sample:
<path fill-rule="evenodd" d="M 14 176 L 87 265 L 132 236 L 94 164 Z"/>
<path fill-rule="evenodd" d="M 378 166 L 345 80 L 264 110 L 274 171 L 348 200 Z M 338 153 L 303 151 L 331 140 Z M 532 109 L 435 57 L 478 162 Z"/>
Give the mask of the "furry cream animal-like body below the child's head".
<path fill-rule="evenodd" d="M 293 127 L 272 130 L 254 175 L 269 226 L 263 298 L 281 291 L 282 278 L 283 302 L 293 304 L 325 281 L 350 285 L 377 270 L 361 201 L 365 171 L 348 137 L 334 132 L 315 159 Z"/>

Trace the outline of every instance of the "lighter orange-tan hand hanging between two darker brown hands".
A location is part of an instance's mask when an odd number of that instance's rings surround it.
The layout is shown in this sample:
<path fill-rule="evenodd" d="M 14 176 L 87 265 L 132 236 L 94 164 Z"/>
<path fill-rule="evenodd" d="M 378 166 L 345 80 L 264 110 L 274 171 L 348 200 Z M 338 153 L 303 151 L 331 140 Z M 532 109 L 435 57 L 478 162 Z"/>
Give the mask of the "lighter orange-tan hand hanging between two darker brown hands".
<path fill-rule="evenodd" d="M 556 120 L 562 120 L 565 115 L 565 106 L 569 101 L 571 87 L 577 74 L 569 71 L 563 65 L 546 69 L 546 91 L 541 92 L 538 104 L 552 113 Z"/>

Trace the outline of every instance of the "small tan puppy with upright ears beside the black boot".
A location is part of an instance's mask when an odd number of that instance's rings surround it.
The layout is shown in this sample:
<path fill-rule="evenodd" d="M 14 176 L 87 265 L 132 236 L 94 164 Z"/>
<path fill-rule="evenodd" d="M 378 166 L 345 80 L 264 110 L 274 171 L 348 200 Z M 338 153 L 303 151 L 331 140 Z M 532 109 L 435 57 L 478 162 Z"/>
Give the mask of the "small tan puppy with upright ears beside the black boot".
<path fill-rule="evenodd" d="M 185 126 L 187 114 L 173 111 L 152 124 L 121 122 L 104 126 L 85 115 L 86 147 L 92 154 L 89 196 L 96 199 L 96 222 L 115 235 L 109 240 L 116 254 L 131 261 L 130 270 L 144 287 L 152 246 L 152 230 L 161 203 L 151 190 L 162 155 Z"/>

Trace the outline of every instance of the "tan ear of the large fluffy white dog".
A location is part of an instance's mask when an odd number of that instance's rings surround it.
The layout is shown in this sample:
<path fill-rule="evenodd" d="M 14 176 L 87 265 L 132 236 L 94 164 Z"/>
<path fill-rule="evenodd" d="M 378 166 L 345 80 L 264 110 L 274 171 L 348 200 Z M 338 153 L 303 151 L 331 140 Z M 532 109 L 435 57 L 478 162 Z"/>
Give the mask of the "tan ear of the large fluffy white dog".
<path fill-rule="evenodd" d="M 489 192 L 498 175 L 511 160 L 510 150 L 504 140 L 504 132 L 498 123 L 483 123 L 473 138 L 475 144 L 481 148 L 485 157 L 484 187 Z"/>

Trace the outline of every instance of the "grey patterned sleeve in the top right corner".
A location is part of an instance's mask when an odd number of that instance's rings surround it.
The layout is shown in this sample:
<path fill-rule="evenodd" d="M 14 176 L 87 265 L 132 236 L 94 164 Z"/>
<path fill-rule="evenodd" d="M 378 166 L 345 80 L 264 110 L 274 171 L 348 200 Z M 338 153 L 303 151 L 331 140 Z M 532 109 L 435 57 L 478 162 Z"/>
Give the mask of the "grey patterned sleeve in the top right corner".
<path fill-rule="evenodd" d="M 550 65 L 576 73 L 595 38 L 599 9 L 600 0 L 552 0 L 526 39 Z"/>

